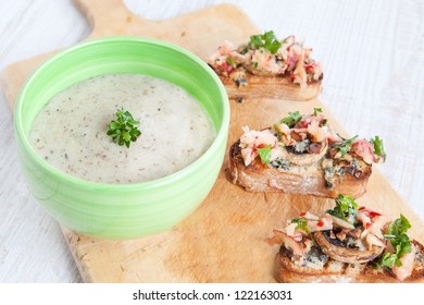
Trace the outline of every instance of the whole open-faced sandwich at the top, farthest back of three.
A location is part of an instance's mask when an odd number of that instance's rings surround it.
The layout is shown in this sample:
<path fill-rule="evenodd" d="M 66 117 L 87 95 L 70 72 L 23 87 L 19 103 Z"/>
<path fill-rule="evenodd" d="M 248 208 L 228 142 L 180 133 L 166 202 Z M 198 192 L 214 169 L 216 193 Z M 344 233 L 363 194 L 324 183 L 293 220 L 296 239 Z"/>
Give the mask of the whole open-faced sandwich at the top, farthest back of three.
<path fill-rule="evenodd" d="M 278 40 L 270 30 L 240 46 L 225 41 L 208 59 L 229 98 L 310 100 L 322 90 L 323 71 L 294 35 Z"/>

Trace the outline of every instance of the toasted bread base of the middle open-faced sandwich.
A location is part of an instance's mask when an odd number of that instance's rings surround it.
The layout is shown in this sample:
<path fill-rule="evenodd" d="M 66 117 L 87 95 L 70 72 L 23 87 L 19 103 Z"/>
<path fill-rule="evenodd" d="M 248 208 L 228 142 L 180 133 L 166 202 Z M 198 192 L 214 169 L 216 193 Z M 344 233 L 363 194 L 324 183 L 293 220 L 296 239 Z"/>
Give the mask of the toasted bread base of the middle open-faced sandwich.
<path fill-rule="evenodd" d="M 237 141 L 229 148 L 227 178 L 249 192 L 283 192 L 326 198 L 337 198 L 338 194 L 345 194 L 357 198 L 366 192 L 372 173 L 371 166 L 360 176 L 347 172 L 344 176 L 336 176 L 333 187 L 327 187 L 320 161 L 308 167 L 291 166 L 289 171 L 278 171 L 263 164 L 258 157 L 246 167 L 239 145 L 240 141 Z"/>

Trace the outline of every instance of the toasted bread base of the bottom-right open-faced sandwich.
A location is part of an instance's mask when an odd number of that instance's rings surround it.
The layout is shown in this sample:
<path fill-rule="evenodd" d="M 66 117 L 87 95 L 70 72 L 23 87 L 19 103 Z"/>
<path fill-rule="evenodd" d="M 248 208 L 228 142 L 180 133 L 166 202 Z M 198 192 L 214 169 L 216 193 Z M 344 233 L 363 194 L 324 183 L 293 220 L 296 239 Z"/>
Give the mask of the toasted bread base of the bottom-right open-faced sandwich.
<path fill-rule="evenodd" d="M 415 246 L 412 273 L 401 282 L 424 282 L 424 246 L 411 241 Z M 285 283 L 387 283 L 400 282 L 392 271 L 373 263 L 348 264 L 328 258 L 321 252 L 303 260 L 294 259 L 291 251 L 284 245 L 275 257 L 275 278 Z"/>

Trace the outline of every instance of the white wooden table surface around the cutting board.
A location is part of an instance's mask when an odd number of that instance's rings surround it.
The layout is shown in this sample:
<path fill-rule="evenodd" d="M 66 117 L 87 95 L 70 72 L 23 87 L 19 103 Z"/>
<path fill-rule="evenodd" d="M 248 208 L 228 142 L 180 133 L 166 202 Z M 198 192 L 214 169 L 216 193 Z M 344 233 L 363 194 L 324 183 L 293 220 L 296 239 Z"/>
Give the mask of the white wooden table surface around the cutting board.
<path fill-rule="evenodd" d="M 145 19 L 169 19 L 223 1 L 125 0 Z M 384 138 L 378 166 L 424 219 L 424 2 L 226 1 L 263 30 L 296 34 L 324 64 L 327 105 L 346 130 Z M 2 0 L 0 70 L 83 40 L 87 21 L 71 0 Z M 205 33 L 208 35 L 208 33 Z M 28 194 L 16 160 L 12 113 L 0 95 L 0 282 L 79 282 L 58 223 Z"/>

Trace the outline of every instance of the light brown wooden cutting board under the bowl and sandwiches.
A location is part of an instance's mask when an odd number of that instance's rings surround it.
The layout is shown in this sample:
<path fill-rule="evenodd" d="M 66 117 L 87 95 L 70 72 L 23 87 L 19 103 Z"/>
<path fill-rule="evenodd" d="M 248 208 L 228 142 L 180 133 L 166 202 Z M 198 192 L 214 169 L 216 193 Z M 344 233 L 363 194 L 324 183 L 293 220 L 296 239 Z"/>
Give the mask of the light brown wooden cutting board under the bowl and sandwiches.
<path fill-rule="evenodd" d="M 221 4 L 165 21 L 149 21 L 130 13 L 121 0 L 76 0 L 88 17 L 88 38 L 115 35 L 149 36 L 179 45 L 202 59 L 228 39 L 241 42 L 260 30 L 234 5 Z M 54 52 L 8 66 L 2 85 L 11 107 L 29 73 Z M 324 83 L 325 87 L 325 83 Z M 332 123 L 342 127 L 317 99 L 309 102 L 230 100 L 228 145 L 241 126 L 269 126 L 288 111 L 321 107 Z M 346 135 L 346 133 L 345 133 Z M 264 240 L 272 229 L 302 210 L 321 212 L 328 199 L 279 193 L 248 193 L 225 178 L 227 159 L 208 198 L 173 230 L 130 241 L 99 240 L 63 228 L 63 234 L 86 282 L 274 282 L 273 261 L 278 246 Z M 424 223 L 374 167 L 367 193 L 358 202 L 385 213 L 406 215 L 412 235 L 424 242 Z"/>

